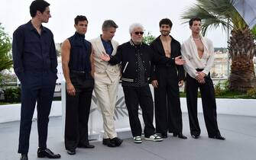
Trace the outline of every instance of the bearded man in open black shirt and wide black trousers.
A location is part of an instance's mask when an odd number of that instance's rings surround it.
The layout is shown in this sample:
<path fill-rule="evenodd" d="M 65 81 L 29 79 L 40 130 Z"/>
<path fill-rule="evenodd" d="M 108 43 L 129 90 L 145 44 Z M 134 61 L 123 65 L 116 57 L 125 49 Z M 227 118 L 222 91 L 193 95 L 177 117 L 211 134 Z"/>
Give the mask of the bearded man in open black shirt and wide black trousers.
<path fill-rule="evenodd" d="M 170 36 L 173 23 L 168 18 L 160 20 L 161 35 L 152 43 L 151 48 L 161 56 L 180 56 L 180 43 Z M 154 65 L 152 85 L 154 86 L 154 108 L 156 131 L 163 138 L 167 138 L 167 132 L 173 133 L 180 139 L 186 139 L 182 133 L 182 114 L 180 109 L 179 86 L 185 79 L 183 66 Z"/>

